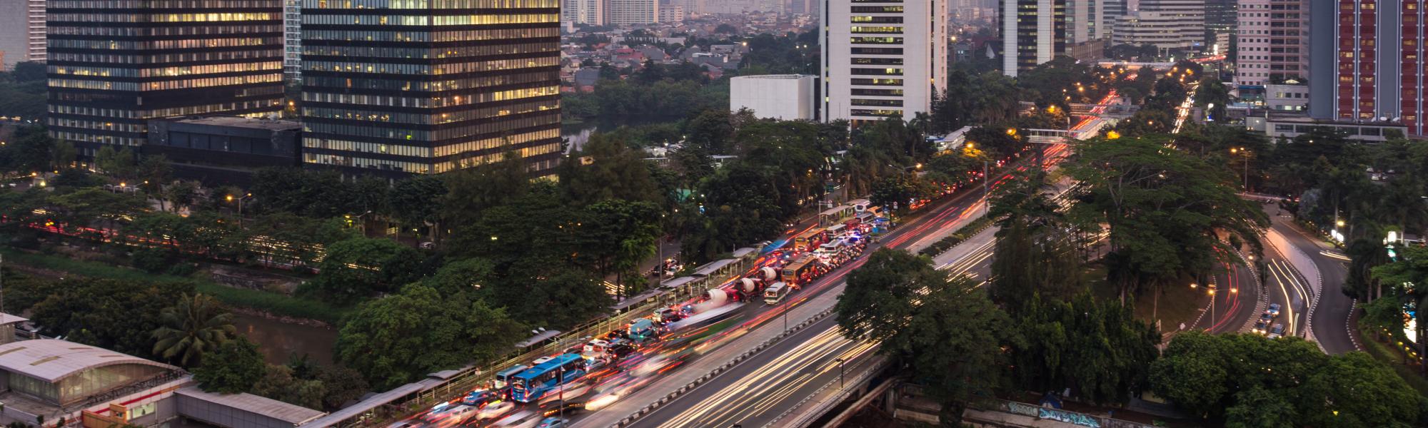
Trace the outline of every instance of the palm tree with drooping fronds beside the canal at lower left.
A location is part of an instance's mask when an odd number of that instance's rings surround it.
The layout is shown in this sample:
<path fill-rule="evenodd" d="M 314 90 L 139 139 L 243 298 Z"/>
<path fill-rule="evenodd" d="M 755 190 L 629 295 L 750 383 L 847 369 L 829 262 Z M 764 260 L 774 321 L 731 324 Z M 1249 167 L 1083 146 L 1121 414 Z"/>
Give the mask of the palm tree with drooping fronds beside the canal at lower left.
<path fill-rule="evenodd" d="M 154 355 L 177 361 L 183 367 L 196 367 L 203 355 L 237 337 L 233 314 L 223 310 L 217 300 L 184 292 L 178 302 L 160 314 L 164 325 L 154 330 Z"/>

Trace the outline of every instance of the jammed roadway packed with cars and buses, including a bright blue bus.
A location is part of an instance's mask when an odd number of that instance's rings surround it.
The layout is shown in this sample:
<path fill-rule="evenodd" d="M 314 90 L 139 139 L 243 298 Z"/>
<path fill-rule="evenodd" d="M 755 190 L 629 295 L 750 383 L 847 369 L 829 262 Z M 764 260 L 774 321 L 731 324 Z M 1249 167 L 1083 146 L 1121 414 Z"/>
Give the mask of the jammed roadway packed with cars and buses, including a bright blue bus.
<path fill-rule="evenodd" d="M 791 240 L 765 245 L 743 275 L 561 354 L 503 368 L 486 385 L 391 427 L 567 427 L 571 417 L 610 407 L 770 318 L 771 311 L 748 318 L 745 308 L 787 308 L 804 285 L 863 255 L 888 218 L 867 201 L 843 207 Z"/>

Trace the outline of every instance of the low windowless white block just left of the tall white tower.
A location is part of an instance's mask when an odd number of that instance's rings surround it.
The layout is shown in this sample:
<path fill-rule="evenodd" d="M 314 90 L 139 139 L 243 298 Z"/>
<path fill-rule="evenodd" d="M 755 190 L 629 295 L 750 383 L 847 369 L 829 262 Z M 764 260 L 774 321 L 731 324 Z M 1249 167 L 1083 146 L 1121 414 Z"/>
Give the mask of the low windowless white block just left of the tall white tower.
<path fill-rule="evenodd" d="M 738 76 L 728 81 L 728 110 L 748 108 L 758 118 L 814 120 L 817 76 Z"/>

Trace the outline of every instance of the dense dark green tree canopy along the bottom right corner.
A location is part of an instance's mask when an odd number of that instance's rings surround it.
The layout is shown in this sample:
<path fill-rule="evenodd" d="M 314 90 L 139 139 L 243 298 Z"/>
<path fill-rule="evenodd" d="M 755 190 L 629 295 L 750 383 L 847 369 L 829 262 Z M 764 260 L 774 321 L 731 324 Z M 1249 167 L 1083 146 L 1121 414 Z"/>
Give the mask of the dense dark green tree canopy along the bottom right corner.
<path fill-rule="evenodd" d="M 1424 398 L 1368 354 L 1289 337 L 1182 332 L 1151 365 L 1157 395 L 1227 427 L 1414 427 Z"/>

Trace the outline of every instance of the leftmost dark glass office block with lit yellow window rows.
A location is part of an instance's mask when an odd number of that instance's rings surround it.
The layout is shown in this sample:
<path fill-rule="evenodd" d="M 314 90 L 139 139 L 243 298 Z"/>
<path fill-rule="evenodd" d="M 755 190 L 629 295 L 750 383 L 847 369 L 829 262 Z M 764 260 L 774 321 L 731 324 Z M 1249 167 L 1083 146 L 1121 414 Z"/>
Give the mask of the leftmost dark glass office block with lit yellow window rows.
<path fill-rule="evenodd" d="M 283 0 L 50 0 L 50 134 L 81 156 L 147 120 L 283 106 Z"/>

